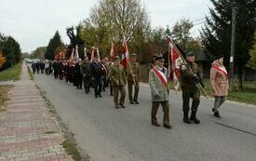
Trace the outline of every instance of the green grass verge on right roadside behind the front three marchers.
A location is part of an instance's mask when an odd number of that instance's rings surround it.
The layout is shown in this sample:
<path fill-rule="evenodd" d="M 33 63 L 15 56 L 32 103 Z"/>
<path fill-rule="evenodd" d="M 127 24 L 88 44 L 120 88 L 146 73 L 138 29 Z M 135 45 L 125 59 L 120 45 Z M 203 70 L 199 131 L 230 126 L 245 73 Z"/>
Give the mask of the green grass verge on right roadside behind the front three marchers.
<path fill-rule="evenodd" d="M 211 88 L 209 84 L 209 79 L 204 80 L 205 91 L 209 95 L 209 97 L 213 97 L 211 94 Z M 169 88 L 172 87 L 172 82 L 168 83 Z M 232 91 L 228 91 L 227 100 L 229 101 L 239 101 L 249 104 L 256 105 L 256 82 L 244 82 L 243 89 L 239 89 L 237 86 L 237 82 L 235 83 L 235 89 Z"/>

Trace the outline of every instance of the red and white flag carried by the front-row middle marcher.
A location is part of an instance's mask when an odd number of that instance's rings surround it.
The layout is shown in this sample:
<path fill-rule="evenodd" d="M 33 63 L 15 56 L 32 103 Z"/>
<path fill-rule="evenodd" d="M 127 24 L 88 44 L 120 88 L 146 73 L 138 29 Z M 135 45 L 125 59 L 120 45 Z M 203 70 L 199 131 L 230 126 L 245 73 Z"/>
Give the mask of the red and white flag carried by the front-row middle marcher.
<path fill-rule="evenodd" d="M 180 77 L 180 66 L 182 64 L 182 58 L 179 55 L 179 50 L 172 42 L 171 38 L 168 36 L 168 48 L 169 48 L 169 62 L 171 62 L 171 68 L 173 72 L 173 84 L 174 89 L 177 91 L 180 87 L 179 77 Z"/>

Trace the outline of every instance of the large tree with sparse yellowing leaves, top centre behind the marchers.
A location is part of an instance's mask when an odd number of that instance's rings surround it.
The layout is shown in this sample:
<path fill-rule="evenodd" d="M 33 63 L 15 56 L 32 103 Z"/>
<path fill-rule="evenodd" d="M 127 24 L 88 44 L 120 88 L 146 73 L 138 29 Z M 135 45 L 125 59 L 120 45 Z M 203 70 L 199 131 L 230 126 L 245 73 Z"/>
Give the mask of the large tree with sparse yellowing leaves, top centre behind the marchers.
<path fill-rule="evenodd" d="M 126 36 L 129 50 L 141 54 L 149 32 L 150 22 L 140 0 L 101 0 L 84 21 L 81 35 L 87 46 L 96 45 L 103 54 L 110 52 L 112 41 L 120 45 Z"/>

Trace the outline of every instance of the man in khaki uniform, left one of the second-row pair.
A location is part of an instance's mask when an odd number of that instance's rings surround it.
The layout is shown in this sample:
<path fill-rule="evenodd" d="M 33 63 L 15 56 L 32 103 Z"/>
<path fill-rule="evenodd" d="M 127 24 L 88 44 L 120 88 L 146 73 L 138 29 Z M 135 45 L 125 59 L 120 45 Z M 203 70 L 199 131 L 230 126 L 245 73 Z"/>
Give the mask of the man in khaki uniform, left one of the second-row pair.
<path fill-rule="evenodd" d="M 126 98 L 126 89 L 125 86 L 127 84 L 126 71 L 125 68 L 120 64 L 119 56 L 115 57 L 114 65 L 110 68 L 110 77 L 111 83 L 114 90 L 114 102 L 115 108 L 118 109 L 120 107 L 126 108 L 124 106 L 125 98 Z M 118 102 L 118 93 L 120 92 L 121 97 Z"/>

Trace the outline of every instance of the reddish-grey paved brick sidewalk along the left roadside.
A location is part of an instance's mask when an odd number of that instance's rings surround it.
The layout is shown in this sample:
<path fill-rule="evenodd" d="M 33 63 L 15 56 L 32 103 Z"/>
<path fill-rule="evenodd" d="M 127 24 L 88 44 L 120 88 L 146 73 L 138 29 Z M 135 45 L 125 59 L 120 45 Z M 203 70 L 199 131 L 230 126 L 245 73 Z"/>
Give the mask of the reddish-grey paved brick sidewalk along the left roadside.
<path fill-rule="evenodd" d="M 72 161 L 61 146 L 61 127 L 24 63 L 20 81 L 13 84 L 7 111 L 0 113 L 0 161 Z"/>

